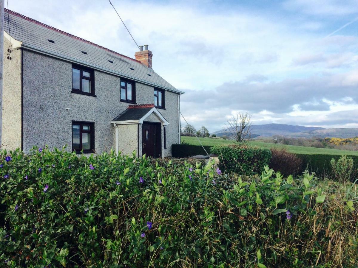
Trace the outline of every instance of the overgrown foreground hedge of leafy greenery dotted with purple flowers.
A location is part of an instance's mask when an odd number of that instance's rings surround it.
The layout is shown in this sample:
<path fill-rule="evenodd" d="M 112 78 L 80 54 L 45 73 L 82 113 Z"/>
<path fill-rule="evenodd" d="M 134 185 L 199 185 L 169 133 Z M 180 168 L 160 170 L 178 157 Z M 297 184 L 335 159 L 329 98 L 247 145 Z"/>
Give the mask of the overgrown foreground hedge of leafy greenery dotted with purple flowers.
<path fill-rule="evenodd" d="M 113 152 L 87 158 L 37 148 L 29 155 L 0 151 L 1 264 L 353 267 L 358 261 L 357 196 L 333 182 L 328 198 L 308 173 L 285 179 L 266 167 L 248 182 L 228 183 L 212 163 L 171 169 L 170 160 L 151 161 Z"/>

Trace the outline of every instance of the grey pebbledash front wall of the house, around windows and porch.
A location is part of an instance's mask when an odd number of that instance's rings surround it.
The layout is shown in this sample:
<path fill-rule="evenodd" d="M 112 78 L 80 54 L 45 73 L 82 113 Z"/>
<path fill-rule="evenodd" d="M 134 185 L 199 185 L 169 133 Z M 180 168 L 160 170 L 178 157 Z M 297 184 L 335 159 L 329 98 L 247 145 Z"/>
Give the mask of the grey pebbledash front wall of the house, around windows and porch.
<path fill-rule="evenodd" d="M 20 51 L 20 50 L 19 50 Z M 120 101 L 120 78 L 94 71 L 96 97 L 71 93 L 72 63 L 28 50 L 23 55 L 23 149 L 25 152 L 37 145 L 49 148 L 72 149 L 72 121 L 95 123 L 95 151 L 101 153 L 116 149 L 115 127 L 111 120 L 128 108 Z M 136 103 L 153 103 L 153 86 L 136 82 Z M 165 91 L 165 109 L 158 109 L 169 122 L 166 127 L 166 149 L 163 156 L 171 156 L 171 144 L 179 143 L 178 94 Z M 151 116 L 148 117 L 150 120 Z M 146 121 L 146 120 L 145 120 Z M 132 139 L 128 131 L 135 136 Z M 141 125 L 119 128 L 119 149 L 124 153 L 141 155 Z M 163 144 L 163 126 L 162 126 Z"/>

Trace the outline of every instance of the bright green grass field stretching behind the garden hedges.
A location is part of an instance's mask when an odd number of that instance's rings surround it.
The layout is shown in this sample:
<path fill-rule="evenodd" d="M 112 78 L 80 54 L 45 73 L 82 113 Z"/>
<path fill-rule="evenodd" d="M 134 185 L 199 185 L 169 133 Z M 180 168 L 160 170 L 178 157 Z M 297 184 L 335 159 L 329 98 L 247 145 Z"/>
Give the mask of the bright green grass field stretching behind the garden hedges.
<path fill-rule="evenodd" d="M 209 138 L 199 138 L 200 142 L 203 145 L 214 146 L 220 144 L 233 144 L 232 140 L 224 139 L 209 139 Z M 188 144 L 200 145 L 196 137 L 183 137 L 182 141 L 185 141 Z M 294 146 L 294 145 L 283 145 L 283 144 L 274 144 L 274 143 L 265 143 L 265 142 L 250 142 L 251 145 L 257 147 L 276 147 L 276 148 L 285 148 L 287 151 L 296 154 L 338 154 L 338 155 L 358 155 L 358 152 L 348 151 L 348 150 L 337 150 L 337 149 L 325 149 L 325 148 L 314 148 L 314 147 L 303 147 L 303 146 Z"/>

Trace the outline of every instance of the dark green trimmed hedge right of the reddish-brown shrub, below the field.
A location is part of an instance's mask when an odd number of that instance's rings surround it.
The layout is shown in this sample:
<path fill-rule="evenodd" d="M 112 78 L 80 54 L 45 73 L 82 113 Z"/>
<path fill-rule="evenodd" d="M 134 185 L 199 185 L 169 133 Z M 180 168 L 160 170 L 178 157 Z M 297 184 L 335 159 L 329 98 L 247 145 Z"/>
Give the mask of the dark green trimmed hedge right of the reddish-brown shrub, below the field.
<path fill-rule="evenodd" d="M 330 161 L 332 158 L 338 160 L 342 155 L 333 154 L 296 154 L 302 159 L 302 170 L 315 172 L 320 178 L 332 175 L 332 166 Z M 347 155 L 353 158 L 354 168 L 358 169 L 358 155 Z"/>

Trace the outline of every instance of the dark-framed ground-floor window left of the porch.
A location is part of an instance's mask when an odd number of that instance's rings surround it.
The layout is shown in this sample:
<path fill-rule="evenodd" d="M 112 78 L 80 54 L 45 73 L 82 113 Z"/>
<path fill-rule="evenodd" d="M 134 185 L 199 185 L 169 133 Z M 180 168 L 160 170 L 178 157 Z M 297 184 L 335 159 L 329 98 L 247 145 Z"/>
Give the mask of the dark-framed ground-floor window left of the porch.
<path fill-rule="evenodd" d="M 93 153 L 95 150 L 95 123 L 72 121 L 72 151 Z"/>

